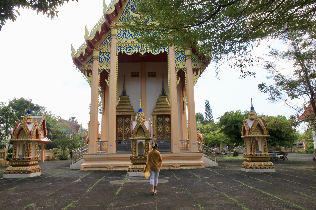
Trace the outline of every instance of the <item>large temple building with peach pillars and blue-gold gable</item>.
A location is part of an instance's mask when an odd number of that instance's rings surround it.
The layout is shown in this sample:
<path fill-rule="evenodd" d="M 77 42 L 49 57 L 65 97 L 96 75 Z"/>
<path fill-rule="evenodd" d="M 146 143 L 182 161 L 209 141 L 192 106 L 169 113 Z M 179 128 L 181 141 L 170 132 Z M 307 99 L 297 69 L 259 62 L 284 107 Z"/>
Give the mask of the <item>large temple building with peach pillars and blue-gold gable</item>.
<path fill-rule="evenodd" d="M 91 87 L 88 153 L 83 155 L 80 168 L 127 170 L 140 101 L 142 114 L 149 121 L 146 129 L 150 142 L 164 145 L 162 167 L 209 166 L 198 152 L 197 139 L 203 139 L 203 135 L 197 133 L 193 90 L 209 61 L 195 49 L 151 49 L 137 43 L 137 33 L 128 31 L 122 23 L 133 15 L 134 3 L 112 0 L 109 7 L 104 3 L 97 24 L 91 31 L 86 27 L 81 47 L 75 50 L 71 45 L 74 66 Z M 100 153 L 101 147 L 106 152 Z"/>

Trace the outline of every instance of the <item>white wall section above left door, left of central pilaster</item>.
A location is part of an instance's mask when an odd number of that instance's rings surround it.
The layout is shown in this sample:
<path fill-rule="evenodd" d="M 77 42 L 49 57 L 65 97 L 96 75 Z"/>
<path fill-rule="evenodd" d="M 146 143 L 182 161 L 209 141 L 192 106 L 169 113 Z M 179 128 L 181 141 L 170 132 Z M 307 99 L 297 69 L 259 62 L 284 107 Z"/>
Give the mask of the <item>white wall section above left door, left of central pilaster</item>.
<path fill-rule="evenodd" d="M 139 72 L 139 77 L 131 77 L 131 72 Z M 125 74 L 125 90 L 130 96 L 130 101 L 135 112 L 139 109 L 141 97 L 141 64 L 140 63 L 119 63 L 118 64 L 118 98 L 123 91 Z M 146 116 L 147 117 L 147 116 Z"/>

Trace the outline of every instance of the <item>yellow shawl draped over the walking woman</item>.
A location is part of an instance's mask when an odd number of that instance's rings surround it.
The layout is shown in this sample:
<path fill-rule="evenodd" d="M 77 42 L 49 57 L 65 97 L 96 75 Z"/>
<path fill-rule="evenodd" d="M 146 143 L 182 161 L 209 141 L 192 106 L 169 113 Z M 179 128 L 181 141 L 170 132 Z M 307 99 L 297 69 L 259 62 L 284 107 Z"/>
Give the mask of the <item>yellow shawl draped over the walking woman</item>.
<path fill-rule="evenodd" d="M 147 162 L 143 170 L 145 178 L 147 179 L 149 177 L 149 171 L 157 171 L 159 168 L 161 168 L 161 165 L 162 158 L 160 152 L 158 152 L 156 149 L 150 150 L 147 154 Z"/>

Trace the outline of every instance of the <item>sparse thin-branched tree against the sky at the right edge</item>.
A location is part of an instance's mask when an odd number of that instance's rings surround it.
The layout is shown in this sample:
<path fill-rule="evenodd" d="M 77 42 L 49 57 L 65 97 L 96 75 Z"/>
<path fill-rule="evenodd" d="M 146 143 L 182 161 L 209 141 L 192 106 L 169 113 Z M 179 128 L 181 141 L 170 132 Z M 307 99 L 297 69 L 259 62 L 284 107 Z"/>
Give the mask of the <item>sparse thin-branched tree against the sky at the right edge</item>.
<path fill-rule="evenodd" d="M 282 37 L 283 42 L 287 43 L 286 51 L 272 49 L 268 54 L 274 61 L 265 61 L 264 70 L 270 74 L 274 84 L 267 85 L 261 83 L 258 88 L 263 93 L 269 94 L 269 100 L 283 101 L 289 107 L 295 109 L 298 113 L 304 115 L 299 118 L 299 123 L 306 121 L 313 129 L 314 146 L 316 148 L 316 32 L 288 32 Z M 278 65 L 278 62 L 293 63 L 294 71 L 285 75 L 284 70 Z M 294 99 L 303 99 L 303 104 L 293 103 Z"/>

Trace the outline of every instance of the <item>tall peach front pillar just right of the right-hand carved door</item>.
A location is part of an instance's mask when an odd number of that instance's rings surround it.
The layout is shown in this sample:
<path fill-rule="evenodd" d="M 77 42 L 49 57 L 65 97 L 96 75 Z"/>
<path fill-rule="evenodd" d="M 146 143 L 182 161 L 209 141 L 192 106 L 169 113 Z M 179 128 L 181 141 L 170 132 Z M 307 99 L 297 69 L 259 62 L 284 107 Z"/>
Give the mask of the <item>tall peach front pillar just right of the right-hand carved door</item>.
<path fill-rule="evenodd" d="M 178 118 L 178 99 L 177 99 L 177 77 L 176 77 L 176 64 L 174 55 L 174 46 L 169 47 L 169 100 L 170 100 L 170 113 L 171 113 L 171 140 L 172 152 L 179 152 L 179 118 Z"/>

